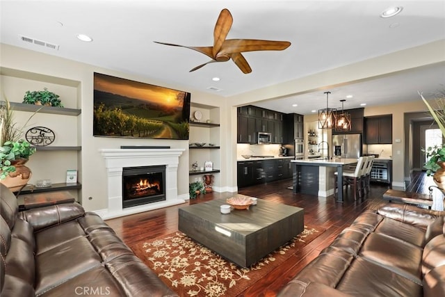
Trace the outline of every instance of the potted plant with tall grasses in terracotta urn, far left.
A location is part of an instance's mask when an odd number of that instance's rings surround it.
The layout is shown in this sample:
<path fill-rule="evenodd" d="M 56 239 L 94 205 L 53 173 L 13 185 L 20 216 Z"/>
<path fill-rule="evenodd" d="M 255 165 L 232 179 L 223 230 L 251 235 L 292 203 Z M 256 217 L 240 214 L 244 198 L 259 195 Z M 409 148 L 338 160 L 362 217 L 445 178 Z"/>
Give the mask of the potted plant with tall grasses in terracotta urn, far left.
<path fill-rule="evenodd" d="M 24 166 L 24 163 L 35 152 L 35 148 L 31 147 L 28 141 L 21 139 L 21 136 L 22 130 L 33 115 L 23 127 L 17 128 L 8 100 L 0 105 L 0 181 L 11 188 L 11 191 L 17 191 L 31 177 L 31 170 Z"/>

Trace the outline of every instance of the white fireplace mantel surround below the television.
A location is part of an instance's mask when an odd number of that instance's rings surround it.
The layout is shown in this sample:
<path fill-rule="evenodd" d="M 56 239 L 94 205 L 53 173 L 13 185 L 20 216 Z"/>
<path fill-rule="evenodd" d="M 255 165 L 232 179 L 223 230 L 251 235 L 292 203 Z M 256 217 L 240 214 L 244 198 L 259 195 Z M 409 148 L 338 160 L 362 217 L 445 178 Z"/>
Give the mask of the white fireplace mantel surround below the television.
<path fill-rule="evenodd" d="M 186 200 L 178 197 L 177 169 L 185 149 L 101 149 L 107 171 L 108 209 L 98 211 L 102 218 L 116 218 L 159 209 Z M 165 200 L 135 207 L 122 207 L 122 171 L 127 167 L 165 165 Z"/>

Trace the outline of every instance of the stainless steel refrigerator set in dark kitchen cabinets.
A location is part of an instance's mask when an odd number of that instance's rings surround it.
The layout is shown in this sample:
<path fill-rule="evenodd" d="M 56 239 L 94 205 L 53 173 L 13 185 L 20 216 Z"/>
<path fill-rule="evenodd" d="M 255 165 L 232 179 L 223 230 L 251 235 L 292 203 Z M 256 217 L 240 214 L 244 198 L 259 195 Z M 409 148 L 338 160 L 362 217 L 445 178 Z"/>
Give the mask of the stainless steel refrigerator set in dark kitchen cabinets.
<path fill-rule="evenodd" d="M 332 135 L 332 156 L 358 159 L 362 154 L 360 134 Z"/>

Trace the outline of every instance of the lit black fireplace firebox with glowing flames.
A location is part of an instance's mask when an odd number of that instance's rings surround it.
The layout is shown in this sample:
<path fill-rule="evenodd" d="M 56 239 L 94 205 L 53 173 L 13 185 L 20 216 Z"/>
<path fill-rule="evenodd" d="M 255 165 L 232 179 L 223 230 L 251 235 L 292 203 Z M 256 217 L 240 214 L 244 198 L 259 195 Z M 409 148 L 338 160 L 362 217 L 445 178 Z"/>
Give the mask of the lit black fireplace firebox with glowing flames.
<path fill-rule="evenodd" d="M 165 200 L 165 166 L 123 168 L 122 207 L 162 200 Z"/>

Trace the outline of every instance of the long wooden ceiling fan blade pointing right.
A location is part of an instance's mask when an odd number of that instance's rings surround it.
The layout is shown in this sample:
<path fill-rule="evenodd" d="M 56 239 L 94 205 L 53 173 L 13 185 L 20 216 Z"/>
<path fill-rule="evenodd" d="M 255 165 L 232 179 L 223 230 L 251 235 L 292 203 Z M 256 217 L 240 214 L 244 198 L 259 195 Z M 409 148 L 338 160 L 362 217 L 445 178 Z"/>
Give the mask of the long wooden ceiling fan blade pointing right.
<path fill-rule="evenodd" d="M 227 39 L 218 55 L 242 53 L 244 51 L 282 51 L 291 45 L 289 41 L 257 40 L 257 39 Z"/>

